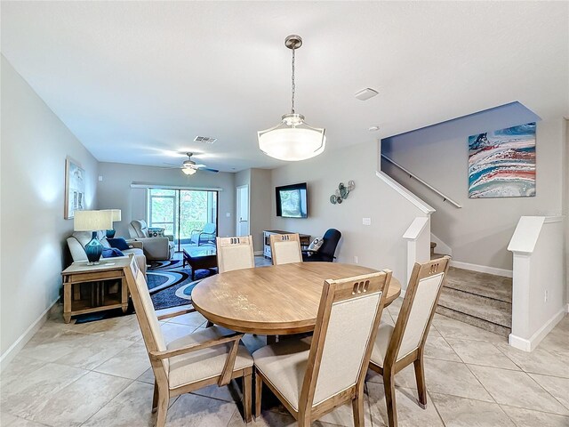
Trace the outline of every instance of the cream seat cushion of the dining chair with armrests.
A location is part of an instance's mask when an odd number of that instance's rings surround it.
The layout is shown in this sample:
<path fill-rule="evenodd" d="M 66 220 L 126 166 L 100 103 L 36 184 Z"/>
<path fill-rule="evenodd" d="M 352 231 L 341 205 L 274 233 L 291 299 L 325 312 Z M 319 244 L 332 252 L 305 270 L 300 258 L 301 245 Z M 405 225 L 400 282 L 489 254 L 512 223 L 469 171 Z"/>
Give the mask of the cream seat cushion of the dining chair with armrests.
<path fill-rule="evenodd" d="M 168 343 L 168 350 L 175 350 L 191 344 L 208 342 L 233 334 L 233 331 L 220 326 L 206 327 L 203 331 L 182 336 L 181 338 Z M 228 359 L 228 352 L 232 343 L 220 344 L 204 350 L 192 351 L 181 356 L 173 357 L 170 360 L 170 372 L 168 375 L 168 385 L 171 388 L 180 387 L 188 383 L 206 380 L 214 376 L 221 375 L 225 362 Z M 252 357 L 243 343 L 239 344 L 235 359 L 234 370 L 252 367 Z"/>

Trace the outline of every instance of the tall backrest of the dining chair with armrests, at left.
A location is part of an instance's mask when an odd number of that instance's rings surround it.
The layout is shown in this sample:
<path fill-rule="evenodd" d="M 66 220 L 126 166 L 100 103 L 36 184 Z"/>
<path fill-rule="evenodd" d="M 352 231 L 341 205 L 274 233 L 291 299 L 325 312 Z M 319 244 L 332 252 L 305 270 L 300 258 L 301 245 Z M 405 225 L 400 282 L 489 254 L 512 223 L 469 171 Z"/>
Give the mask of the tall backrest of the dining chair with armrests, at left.
<path fill-rule="evenodd" d="M 132 255 L 131 258 L 133 258 Z M 139 321 L 140 331 L 142 332 L 146 349 L 148 352 L 166 350 L 166 342 L 164 341 L 164 335 L 162 334 L 162 329 L 156 317 L 152 299 L 148 293 L 148 285 L 144 273 L 140 271 L 138 264 L 131 260 L 130 266 L 124 270 L 124 276 L 126 277 L 128 290 L 131 293 L 132 304 L 136 311 L 136 318 Z M 168 360 L 164 359 L 163 367 L 166 375 L 168 373 L 168 366 Z"/>

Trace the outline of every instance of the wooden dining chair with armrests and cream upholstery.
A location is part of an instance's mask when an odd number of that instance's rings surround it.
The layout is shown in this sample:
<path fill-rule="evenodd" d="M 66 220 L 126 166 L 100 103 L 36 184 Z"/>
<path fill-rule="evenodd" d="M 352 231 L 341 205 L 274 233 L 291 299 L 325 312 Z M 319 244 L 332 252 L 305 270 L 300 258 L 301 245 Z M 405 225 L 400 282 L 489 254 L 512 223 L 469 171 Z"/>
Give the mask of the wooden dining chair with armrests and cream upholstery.
<path fill-rule="evenodd" d="M 156 427 L 164 427 L 170 398 L 207 385 L 223 386 L 243 378 L 245 423 L 251 421 L 252 357 L 240 343 L 243 334 L 219 326 L 205 328 L 166 344 L 158 320 L 195 311 L 181 310 L 156 317 L 148 286 L 136 262 L 125 269 L 134 310 L 155 376 L 152 411 L 158 411 Z"/>

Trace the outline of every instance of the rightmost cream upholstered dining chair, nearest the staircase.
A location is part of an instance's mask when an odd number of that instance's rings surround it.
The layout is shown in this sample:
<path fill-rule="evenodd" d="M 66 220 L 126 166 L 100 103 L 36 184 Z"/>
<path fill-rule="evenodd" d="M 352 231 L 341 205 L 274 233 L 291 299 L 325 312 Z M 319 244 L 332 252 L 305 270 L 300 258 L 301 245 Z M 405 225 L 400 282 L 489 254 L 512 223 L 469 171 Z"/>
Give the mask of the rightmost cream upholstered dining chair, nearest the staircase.
<path fill-rule="evenodd" d="M 444 256 L 421 264 L 415 263 L 396 325 L 380 325 L 370 367 L 383 376 L 389 427 L 397 427 L 395 375 L 412 363 L 419 405 L 423 409 L 427 407 L 423 353 L 450 259 L 450 256 Z"/>

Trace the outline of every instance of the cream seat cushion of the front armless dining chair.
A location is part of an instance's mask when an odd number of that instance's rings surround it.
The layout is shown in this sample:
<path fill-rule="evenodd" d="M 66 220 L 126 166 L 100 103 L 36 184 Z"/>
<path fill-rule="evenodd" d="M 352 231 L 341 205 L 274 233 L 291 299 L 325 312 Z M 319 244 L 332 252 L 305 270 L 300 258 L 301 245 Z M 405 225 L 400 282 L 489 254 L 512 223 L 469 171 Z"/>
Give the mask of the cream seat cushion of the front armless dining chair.
<path fill-rule="evenodd" d="M 288 339 L 252 353 L 255 366 L 295 410 L 299 408 L 312 337 Z"/>

